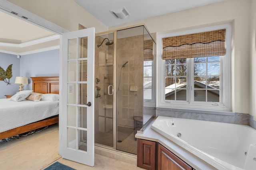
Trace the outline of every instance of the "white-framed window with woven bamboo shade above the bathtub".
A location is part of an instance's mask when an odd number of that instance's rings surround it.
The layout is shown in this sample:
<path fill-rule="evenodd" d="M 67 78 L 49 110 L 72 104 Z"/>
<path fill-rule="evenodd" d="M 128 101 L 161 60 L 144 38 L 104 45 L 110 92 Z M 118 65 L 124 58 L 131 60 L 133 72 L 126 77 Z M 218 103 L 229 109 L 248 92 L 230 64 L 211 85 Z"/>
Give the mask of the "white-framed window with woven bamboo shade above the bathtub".
<path fill-rule="evenodd" d="M 211 37 L 209 32 L 221 31 L 225 31 L 224 40 L 217 35 L 217 40 L 208 42 L 203 37 L 203 43 L 198 39 L 191 42 L 194 40 L 190 37 L 194 39 L 195 35 Z M 158 56 L 158 68 L 162 70 L 157 74 L 158 107 L 230 111 L 230 37 L 230 25 L 160 35 L 159 49 L 163 50 L 158 51 L 162 54 Z M 182 40 L 177 41 L 180 38 Z M 166 39 L 175 41 L 176 45 L 166 43 Z"/>

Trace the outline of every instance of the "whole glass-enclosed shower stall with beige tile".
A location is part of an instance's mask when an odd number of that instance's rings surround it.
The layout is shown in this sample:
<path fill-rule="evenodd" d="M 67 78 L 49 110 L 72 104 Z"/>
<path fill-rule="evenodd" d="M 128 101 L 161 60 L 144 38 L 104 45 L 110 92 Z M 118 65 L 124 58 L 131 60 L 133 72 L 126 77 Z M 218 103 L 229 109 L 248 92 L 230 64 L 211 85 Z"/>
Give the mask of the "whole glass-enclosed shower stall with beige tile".
<path fill-rule="evenodd" d="M 95 37 L 95 143 L 137 154 L 134 135 L 155 117 L 156 43 L 145 25 Z"/>

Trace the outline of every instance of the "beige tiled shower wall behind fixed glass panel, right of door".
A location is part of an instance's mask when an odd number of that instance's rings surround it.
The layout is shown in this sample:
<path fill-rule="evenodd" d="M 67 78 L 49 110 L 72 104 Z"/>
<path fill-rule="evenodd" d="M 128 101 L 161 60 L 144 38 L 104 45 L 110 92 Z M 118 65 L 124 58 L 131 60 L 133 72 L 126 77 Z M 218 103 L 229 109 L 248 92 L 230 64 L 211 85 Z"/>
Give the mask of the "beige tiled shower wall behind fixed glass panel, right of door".
<path fill-rule="evenodd" d="M 118 125 L 133 127 L 133 117 L 143 115 L 143 35 L 117 40 L 117 66 Z"/>

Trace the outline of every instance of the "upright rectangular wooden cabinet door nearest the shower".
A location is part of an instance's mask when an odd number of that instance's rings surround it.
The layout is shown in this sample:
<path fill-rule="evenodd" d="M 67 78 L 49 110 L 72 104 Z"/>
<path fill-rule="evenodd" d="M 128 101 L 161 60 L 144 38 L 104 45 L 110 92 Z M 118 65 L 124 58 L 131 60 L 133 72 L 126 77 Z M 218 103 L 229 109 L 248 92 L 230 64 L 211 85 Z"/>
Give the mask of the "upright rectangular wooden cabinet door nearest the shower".
<path fill-rule="evenodd" d="M 156 142 L 137 139 L 137 166 L 147 170 L 156 169 Z"/>

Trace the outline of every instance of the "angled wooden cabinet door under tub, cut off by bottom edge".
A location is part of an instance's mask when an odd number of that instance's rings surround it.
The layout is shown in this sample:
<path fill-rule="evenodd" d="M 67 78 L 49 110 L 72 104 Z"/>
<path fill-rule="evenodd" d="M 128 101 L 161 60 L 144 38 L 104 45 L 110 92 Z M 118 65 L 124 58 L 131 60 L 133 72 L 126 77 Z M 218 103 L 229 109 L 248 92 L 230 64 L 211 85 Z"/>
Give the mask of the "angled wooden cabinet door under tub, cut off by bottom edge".
<path fill-rule="evenodd" d="M 158 143 L 158 170 L 193 170 L 186 162 Z"/>

